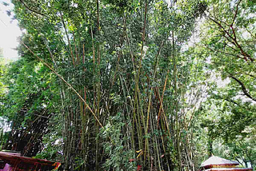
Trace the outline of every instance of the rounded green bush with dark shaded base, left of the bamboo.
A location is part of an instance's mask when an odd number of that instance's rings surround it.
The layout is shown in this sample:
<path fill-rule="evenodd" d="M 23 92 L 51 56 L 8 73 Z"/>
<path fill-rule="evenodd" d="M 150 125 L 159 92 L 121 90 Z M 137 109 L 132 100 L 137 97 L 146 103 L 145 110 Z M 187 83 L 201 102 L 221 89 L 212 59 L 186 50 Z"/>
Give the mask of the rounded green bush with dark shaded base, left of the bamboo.
<path fill-rule="evenodd" d="M 42 150 L 42 135 L 47 133 L 48 119 L 55 112 L 54 87 L 49 85 L 53 80 L 41 63 L 25 58 L 10 63 L 4 75 L 8 91 L 2 104 L 2 116 L 18 131 L 10 132 L 6 149 L 22 151 L 26 156 L 34 156 Z"/>

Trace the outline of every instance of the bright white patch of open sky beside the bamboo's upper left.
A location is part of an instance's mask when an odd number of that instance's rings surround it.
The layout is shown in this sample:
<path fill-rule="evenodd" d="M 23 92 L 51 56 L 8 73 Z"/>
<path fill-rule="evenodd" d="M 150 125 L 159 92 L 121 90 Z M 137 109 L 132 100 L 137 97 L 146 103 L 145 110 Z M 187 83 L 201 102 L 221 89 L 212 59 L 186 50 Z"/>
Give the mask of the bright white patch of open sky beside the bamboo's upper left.
<path fill-rule="evenodd" d="M 9 6 L 4 6 L 2 2 L 7 2 Z M 14 5 L 10 0 L 0 0 L 0 48 L 3 50 L 3 56 L 6 59 L 18 59 L 18 52 L 14 50 L 18 46 L 18 37 L 22 31 L 18 27 L 18 21 L 13 20 L 13 13 L 8 16 L 6 10 L 12 10 Z"/>

